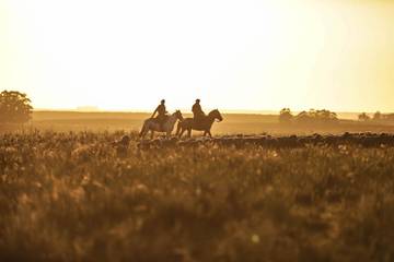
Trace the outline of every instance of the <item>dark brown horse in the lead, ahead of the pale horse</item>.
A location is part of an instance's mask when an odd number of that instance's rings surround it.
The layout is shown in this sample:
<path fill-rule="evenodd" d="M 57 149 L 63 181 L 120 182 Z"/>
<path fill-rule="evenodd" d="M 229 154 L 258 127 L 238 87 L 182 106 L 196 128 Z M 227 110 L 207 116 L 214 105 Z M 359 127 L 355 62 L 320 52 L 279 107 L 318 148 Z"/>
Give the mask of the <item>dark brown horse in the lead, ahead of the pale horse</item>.
<path fill-rule="evenodd" d="M 192 129 L 204 131 L 204 136 L 209 134 L 212 138 L 210 129 L 212 128 L 213 121 L 218 120 L 223 121 L 223 117 L 220 115 L 218 109 L 210 111 L 207 116 L 201 117 L 201 120 L 196 122 L 193 118 L 185 118 L 185 120 L 179 121 L 176 128 L 176 135 L 181 138 L 183 133 L 187 130 L 187 135 L 192 136 Z"/>

